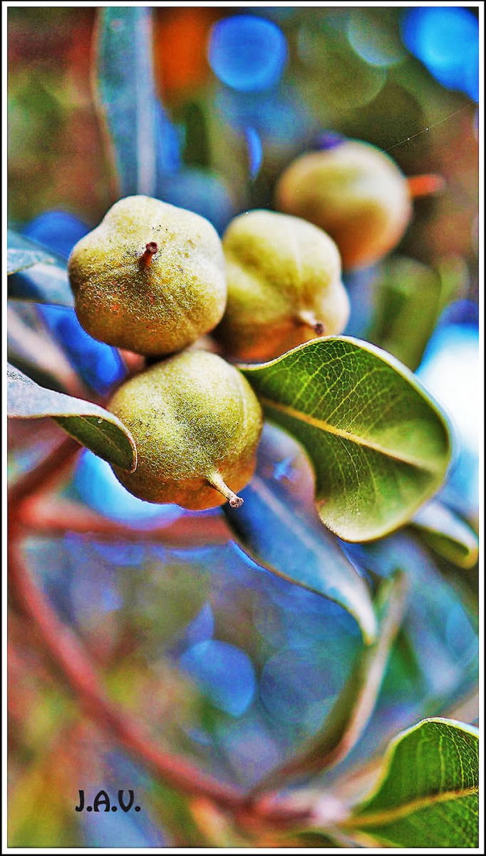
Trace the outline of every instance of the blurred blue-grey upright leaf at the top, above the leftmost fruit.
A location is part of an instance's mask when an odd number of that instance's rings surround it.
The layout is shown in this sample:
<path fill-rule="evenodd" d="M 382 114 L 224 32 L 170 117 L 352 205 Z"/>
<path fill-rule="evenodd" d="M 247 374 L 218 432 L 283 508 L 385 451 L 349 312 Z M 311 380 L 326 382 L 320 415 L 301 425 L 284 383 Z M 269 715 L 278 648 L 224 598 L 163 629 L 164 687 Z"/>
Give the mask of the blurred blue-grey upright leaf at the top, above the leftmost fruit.
<path fill-rule="evenodd" d="M 151 10 L 98 10 L 98 106 L 104 116 L 120 196 L 155 195 L 155 86 Z"/>

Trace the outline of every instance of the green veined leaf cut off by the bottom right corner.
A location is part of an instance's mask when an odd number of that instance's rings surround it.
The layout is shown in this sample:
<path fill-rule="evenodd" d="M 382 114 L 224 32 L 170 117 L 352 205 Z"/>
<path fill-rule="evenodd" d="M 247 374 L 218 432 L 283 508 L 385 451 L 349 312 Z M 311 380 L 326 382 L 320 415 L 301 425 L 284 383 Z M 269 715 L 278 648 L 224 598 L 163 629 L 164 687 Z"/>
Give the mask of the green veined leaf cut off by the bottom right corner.
<path fill-rule="evenodd" d="M 478 847 L 478 731 L 440 717 L 398 734 L 374 794 L 342 825 L 384 847 Z"/>

